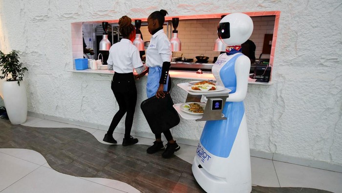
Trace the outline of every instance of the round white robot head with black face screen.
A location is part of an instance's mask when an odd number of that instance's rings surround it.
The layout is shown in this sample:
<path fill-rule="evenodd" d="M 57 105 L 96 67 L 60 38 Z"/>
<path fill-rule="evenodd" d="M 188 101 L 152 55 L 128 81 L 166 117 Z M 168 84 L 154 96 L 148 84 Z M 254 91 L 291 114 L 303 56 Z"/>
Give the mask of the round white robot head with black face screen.
<path fill-rule="evenodd" d="M 217 35 L 227 46 L 241 45 L 253 32 L 252 19 L 243 13 L 232 13 L 218 23 Z"/>

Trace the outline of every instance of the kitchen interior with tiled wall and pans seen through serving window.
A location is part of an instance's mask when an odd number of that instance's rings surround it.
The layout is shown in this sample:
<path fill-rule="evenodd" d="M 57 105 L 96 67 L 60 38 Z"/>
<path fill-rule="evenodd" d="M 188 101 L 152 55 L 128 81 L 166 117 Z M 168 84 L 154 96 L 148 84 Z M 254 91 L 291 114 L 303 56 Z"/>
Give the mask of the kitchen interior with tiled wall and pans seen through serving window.
<path fill-rule="evenodd" d="M 273 66 L 270 56 L 276 16 L 252 16 L 251 18 L 254 22 L 254 30 L 250 40 L 256 45 L 256 59 L 255 61 L 251 60 L 250 80 L 268 83 L 271 80 Z M 219 21 L 220 18 L 184 20 L 172 18 L 164 22 L 164 32 L 167 36 L 170 39 L 176 36 L 181 43 L 181 46 L 172 51 L 171 70 L 211 73 L 214 62 L 221 53 L 224 53 L 225 49 L 225 46 L 217 38 Z M 137 20 L 132 19 L 132 24 L 136 25 L 136 23 Z M 144 48 L 140 48 L 140 53 L 142 61 L 145 62 L 144 50 L 149 44 L 151 35 L 146 21 L 138 22 L 138 25 L 140 25 L 140 28 L 137 27 L 141 31 L 140 37 L 144 41 Z M 118 33 L 118 23 L 109 21 L 105 25 L 100 21 L 87 22 L 82 24 L 82 29 L 87 48 L 92 48 L 95 53 L 92 56 L 88 55 L 88 59 L 101 59 L 106 65 L 109 52 L 100 49 L 100 41 L 104 34 L 107 34 L 111 45 L 120 41 L 122 36 Z M 219 45 L 215 45 L 217 42 Z"/>

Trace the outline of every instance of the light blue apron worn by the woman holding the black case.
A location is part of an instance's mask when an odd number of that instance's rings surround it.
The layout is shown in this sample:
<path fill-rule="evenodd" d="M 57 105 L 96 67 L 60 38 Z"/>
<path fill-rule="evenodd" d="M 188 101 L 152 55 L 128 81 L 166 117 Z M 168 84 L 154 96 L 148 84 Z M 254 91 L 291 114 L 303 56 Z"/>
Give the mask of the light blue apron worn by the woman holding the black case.
<path fill-rule="evenodd" d="M 159 80 L 162 75 L 162 67 L 149 67 L 149 74 L 147 76 L 147 85 L 146 85 L 146 93 L 147 97 L 150 98 L 157 93 L 159 88 Z M 168 90 L 168 83 L 169 83 L 169 75 L 166 80 L 166 84 L 164 85 L 163 91 Z"/>

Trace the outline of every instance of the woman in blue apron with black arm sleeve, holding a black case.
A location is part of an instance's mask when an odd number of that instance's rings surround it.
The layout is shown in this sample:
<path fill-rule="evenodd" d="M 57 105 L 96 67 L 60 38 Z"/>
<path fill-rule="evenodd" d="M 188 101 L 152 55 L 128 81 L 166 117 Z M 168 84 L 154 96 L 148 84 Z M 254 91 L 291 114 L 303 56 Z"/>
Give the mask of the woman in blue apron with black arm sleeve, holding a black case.
<path fill-rule="evenodd" d="M 146 50 L 146 61 L 147 66 L 149 67 L 146 86 L 148 98 L 154 95 L 157 98 L 164 98 L 165 93 L 163 91 L 170 91 L 171 88 L 171 80 L 169 77 L 172 55 L 171 43 L 163 30 L 166 14 L 168 14 L 168 12 L 162 9 L 151 13 L 147 19 L 148 29 L 152 35 L 150 45 Z M 162 157 L 169 158 L 175 151 L 179 150 L 180 147 L 176 141 L 173 140 L 170 130 L 163 133 L 168 140 L 167 148 L 164 148 L 161 140 L 161 133 L 155 134 L 155 141 L 153 142 L 153 145 L 147 149 L 147 153 L 151 154 L 164 150 Z"/>

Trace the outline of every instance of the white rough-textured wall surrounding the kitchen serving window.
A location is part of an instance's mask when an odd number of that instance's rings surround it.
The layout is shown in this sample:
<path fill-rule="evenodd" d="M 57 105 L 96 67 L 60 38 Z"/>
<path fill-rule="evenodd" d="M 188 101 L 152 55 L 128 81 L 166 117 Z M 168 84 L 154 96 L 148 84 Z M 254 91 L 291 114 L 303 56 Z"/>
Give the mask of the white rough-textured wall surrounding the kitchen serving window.
<path fill-rule="evenodd" d="M 249 85 L 245 99 L 251 149 L 342 165 L 341 0 L 1 0 L 0 49 L 21 51 L 29 111 L 109 125 L 118 109 L 111 76 L 65 71 L 72 68 L 70 23 L 146 18 L 161 8 L 170 16 L 281 11 L 274 85 Z M 183 102 L 185 93 L 175 87 L 172 96 Z M 133 130 L 149 132 L 139 106 L 135 117 Z M 199 139 L 202 128 L 182 120 L 173 133 Z"/>

